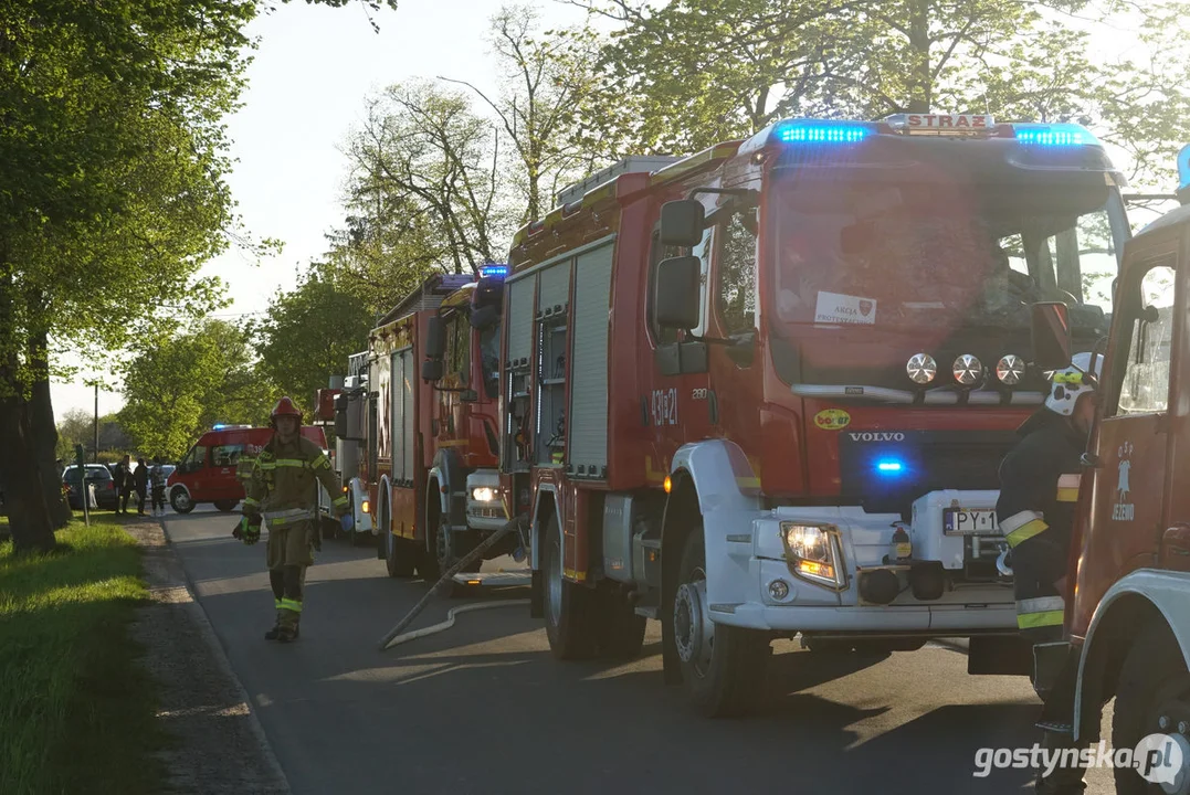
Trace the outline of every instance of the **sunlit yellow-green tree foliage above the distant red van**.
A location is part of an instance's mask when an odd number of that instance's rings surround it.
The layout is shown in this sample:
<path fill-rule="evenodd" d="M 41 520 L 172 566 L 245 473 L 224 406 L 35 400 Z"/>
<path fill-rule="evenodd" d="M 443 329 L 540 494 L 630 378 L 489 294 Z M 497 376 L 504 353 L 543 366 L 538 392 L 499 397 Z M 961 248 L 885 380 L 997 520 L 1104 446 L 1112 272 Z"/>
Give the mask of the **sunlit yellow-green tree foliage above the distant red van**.
<path fill-rule="evenodd" d="M 276 398 L 248 333 L 219 320 L 138 343 L 121 374 L 120 422 L 149 455 L 177 458 L 215 423 L 261 424 Z"/>

